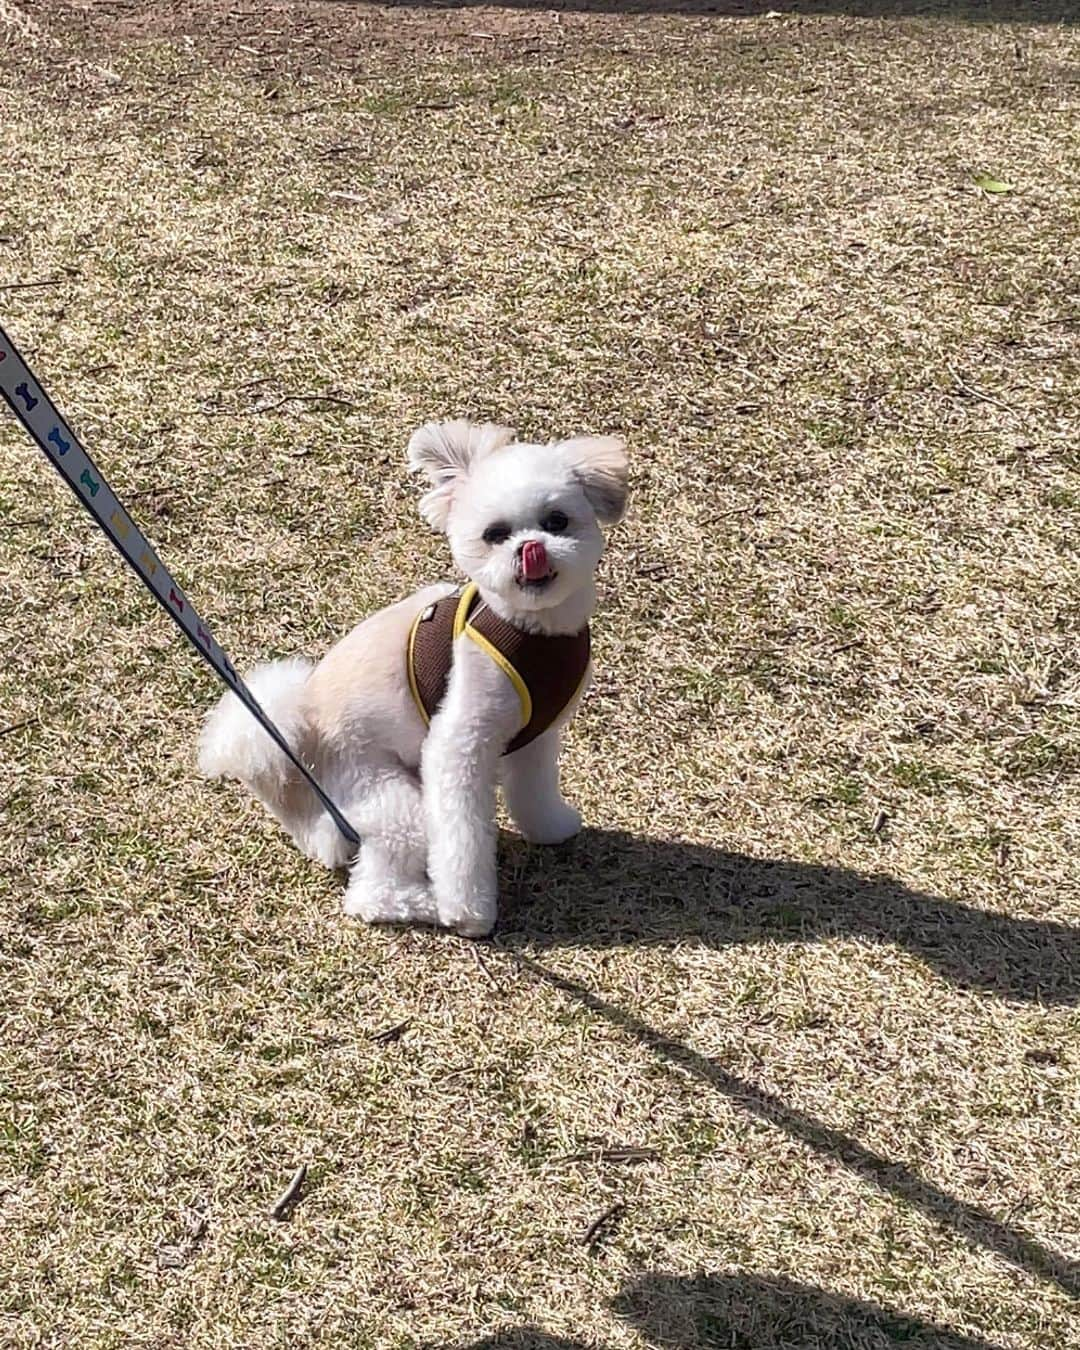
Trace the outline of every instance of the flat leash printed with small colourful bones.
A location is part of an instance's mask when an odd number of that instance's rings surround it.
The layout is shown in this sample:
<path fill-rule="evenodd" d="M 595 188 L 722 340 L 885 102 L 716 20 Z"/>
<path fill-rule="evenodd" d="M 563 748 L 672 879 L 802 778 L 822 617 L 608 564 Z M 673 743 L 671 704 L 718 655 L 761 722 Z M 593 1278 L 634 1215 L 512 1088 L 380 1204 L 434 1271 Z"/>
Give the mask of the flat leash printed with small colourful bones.
<path fill-rule="evenodd" d="M 49 463 L 82 502 L 143 586 L 221 683 L 239 698 L 266 734 L 300 770 L 342 834 L 350 844 L 359 846 L 360 838 L 356 832 L 327 796 L 312 771 L 293 752 L 289 742 L 262 710 L 255 695 L 232 668 L 228 656 L 215 641 L 209 628 L 176 583 L 169 568 L 150 547 L 120 498 L 109 487 L 104 474 L 78 443 L 78 437 L 57 412 L 49 394 L 42 389 L 40 381 L 35 378 L 19 355 L 15 343 L 1 327 L 0 394 L 4 396 L 4 401 L 23 424 L 23 428 L 38 443 Z"/>

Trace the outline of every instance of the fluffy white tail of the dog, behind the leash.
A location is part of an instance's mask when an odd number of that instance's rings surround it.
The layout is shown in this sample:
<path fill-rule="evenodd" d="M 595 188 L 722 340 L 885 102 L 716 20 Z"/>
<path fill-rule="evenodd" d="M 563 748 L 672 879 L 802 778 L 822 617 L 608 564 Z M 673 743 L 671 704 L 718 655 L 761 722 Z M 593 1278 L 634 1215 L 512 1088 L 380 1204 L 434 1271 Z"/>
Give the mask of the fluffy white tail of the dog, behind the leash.
<path fill-rule="evenodd" d="M 310 755 L 312 726 L 304 686 L 312 663 L 304 657 L 269 662 L 246 684 L 292 749 Z M 205 778 L 238 778 L 271 809 L 292 795 L 300 774 L 235 694 L 224 694 L 198 738 L 198 770 Z"/>

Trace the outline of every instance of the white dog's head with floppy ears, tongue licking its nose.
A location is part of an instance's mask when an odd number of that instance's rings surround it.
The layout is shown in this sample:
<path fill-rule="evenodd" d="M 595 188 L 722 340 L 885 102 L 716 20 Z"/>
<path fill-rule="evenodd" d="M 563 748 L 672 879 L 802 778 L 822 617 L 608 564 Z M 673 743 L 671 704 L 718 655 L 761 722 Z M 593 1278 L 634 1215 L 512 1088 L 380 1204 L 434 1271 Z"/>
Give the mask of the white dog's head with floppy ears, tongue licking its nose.
<path fill-rule="evenodd" d="M 508 427 L 428 423 L 409 463 L 431 479 L 420 512 L 446 532 L 454 560 L 516 612 L 551 609 L 590 585 L 599 526 L 626 506 L 626 451 L 614 436 L 532 446 Z"/>

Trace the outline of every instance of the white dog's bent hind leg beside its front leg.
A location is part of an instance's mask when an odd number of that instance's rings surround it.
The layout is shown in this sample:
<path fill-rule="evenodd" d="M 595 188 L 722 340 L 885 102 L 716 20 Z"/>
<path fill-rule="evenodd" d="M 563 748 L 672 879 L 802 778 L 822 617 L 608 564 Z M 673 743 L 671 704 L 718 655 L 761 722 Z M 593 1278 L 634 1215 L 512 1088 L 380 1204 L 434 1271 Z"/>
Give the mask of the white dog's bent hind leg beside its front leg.
<path fill-rule="evenodd" d="M 346 914 L 369 923 L 435 923 L 418 780 L 404 767 L 381 765 L 356 784 L 344 813 L 360 834 Z"/>

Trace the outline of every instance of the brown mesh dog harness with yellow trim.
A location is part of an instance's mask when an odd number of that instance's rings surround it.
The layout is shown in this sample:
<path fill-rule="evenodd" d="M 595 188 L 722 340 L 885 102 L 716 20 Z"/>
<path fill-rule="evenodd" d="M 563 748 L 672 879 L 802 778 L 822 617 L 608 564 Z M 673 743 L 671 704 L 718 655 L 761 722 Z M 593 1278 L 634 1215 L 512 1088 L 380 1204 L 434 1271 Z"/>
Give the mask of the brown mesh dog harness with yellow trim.
<path fill-rule="evenodd" d="M 570 637 L 526 633 L 485 605 L 473 582 L 428 605 L 409 629 L 409 688 L 425 722 L 446 697 L 454 643 L 463 634 L 487 652 L 521 699 L 524 725 L 504 755 L 543 736 L 574 701 L 589 671 L 587 626 Z"/>

